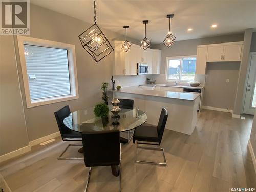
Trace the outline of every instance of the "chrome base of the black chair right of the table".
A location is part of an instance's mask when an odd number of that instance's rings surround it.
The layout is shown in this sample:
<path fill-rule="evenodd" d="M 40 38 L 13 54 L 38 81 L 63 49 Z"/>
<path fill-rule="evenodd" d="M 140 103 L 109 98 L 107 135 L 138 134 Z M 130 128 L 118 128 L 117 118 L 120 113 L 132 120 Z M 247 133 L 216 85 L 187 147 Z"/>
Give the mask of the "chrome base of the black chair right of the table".
<path fill-rule="evenodd" d="M 164 149 L 163 149 L 163 148 L 161 148 L 161 147 L 139 146 L 137 142 L 138 142 L 138 141 L 135 141 L 135 162 L 136 162 L 136 163 L 146 163 L 146 164 L 163 165 L 163 166 L 166 166 L 166 165 L 167 165 L 166 158 L 165 158 L 165 155 L 164 155 Z M 139 141 L 139 142 L 140 142 L 140 141 Z M 141 143 L 141 142 L 140 142 L 140 144 L 150 144 L 150 143 Z M 163 152 L 164 163 L 137 160 L 137 148 L 143 148 L 143 149 L 145 149 L 145 150 L 162 151 L 162 152 Z"/>

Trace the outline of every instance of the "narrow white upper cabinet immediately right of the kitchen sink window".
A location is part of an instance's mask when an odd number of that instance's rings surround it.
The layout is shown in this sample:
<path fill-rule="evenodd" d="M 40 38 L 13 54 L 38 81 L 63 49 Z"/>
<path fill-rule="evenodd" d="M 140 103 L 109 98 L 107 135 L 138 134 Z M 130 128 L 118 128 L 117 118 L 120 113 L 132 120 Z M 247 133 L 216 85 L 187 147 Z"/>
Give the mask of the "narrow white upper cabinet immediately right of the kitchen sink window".
<path fill-rule="evenodd" d="M 205 74 L 207 60 L 207 46 L 197 47 L 196 74 Z"/>

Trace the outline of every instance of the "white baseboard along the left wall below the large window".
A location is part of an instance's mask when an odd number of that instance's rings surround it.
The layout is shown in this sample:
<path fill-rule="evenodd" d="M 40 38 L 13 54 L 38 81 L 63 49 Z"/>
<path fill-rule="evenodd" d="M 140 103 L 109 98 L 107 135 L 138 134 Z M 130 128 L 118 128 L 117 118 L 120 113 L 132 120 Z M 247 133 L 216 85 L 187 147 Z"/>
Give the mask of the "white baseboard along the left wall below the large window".
<path fill-rule="evenodd" d="M 10 153 L 7 153 L 7 154 L 4 154 L 4 155 L 0 156 L 0 163 L 3 162 L 3 161 L 6 161 L 8 159 L 11 159 L 13 157 L 16 157 L 18 155 L 22 155 L 24 153 L 27 153 L 31 150 L 32 146 L 35 146 L 39 143 L 48 141 L 48 140 L 53 139 L 53 138 L 58 137 L 58 136 L 60 136 L 60 132 L 55 132 L 55 133 L 47 135 L 45 137 L 41 137 L 41 138 L 35 139 L 33 141 L 30 141 L 28 146 L 25 146 L 23 148 L 19 148 L 18 150 L 15 150 L 15 151 L 12 151 Z"/>

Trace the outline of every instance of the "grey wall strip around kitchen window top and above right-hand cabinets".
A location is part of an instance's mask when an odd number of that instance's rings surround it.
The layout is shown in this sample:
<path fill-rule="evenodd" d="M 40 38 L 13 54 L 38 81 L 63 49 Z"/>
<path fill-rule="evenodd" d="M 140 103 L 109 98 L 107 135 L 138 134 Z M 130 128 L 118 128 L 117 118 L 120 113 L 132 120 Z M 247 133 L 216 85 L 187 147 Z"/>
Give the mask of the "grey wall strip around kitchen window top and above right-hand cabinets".
<path fill-rule="evenodd" d="M 243 41 L 243 40 L 244 40 L 244 34 L 233 34 L 233 35 L 224 35 L 224 36 L 217 36 L 217 37 L 177 41 L 170 48 L 167 48 L 163 44 L 152 45 L 151 48 L 162 50 L 160 73 L 164 74 L 165 66 L 166 66 L 166 57 L 197 55 L 198 45 L 219 44 L 221 42 L 234 42 L 234 41 Z"/>

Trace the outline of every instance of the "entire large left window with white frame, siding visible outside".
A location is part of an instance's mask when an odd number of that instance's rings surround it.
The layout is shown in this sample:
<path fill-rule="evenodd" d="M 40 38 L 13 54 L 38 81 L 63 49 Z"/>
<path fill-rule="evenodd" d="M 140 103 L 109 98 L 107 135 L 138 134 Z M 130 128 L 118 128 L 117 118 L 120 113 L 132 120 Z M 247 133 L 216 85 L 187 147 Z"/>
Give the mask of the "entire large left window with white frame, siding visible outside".
<path fill-rule="evenodd" d="M 75 46 L 18 36 L 27 107 L 78 98 Z"/>

